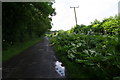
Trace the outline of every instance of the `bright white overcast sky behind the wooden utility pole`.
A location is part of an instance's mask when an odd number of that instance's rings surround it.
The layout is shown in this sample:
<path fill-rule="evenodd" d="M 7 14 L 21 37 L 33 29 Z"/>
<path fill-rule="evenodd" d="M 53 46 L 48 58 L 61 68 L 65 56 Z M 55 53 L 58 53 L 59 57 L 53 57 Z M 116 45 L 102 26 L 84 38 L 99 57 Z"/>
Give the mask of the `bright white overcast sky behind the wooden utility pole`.
<path fill-rule="evenodd" d="M 120 0 L 55 0 L 53 8 L 57 15 L 52 17 L 51 30 L 69 30 L 75 23 L 74 9 L 76 8 L 77 23 L 89 25 L 95 19 L 102 20 L 105 17 L 118 14 L 118 2 Z"/>

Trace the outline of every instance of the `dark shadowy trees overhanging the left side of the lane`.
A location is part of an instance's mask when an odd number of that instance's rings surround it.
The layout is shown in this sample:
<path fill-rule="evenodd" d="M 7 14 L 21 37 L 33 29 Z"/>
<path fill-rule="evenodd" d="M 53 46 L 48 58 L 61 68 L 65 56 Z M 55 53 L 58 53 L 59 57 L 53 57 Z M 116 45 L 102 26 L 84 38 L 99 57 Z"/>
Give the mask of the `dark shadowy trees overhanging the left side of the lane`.
<path fill-rule="evenodd" d="M 55 9 L 52 2 L 3 2 L 3 50 L 8 46 L 37 38 L 51 29 Z"/>

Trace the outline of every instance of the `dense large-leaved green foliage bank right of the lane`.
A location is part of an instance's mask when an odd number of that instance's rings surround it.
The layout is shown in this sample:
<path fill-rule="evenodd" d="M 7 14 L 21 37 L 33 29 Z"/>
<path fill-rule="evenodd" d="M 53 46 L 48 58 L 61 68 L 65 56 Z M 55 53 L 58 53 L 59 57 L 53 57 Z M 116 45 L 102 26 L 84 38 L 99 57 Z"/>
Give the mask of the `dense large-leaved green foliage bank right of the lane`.
<path fill-rule="evenodd" d="M 48 35 L 69 77 L 120 79 L 119 21 L 118 16 L 109 17 Z"/>

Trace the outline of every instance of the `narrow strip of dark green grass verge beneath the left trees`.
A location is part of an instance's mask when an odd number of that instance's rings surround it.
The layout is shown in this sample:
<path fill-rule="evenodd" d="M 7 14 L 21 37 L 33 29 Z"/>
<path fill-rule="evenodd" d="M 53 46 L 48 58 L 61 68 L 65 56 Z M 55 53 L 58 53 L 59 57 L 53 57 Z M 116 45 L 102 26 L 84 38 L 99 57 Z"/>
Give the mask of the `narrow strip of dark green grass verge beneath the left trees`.
<path fill-rule="evenodd" d="M 20 54 L 24 50 L 28 49 L 29 47 L 35 45 L 36 43 L 40 42 L 42 38 L 31 39 L 27 42 L 21 43 L 19 45 L 14 45 L 10 47 L 8 50 L 2 52 L 2 62 L 5 62 L 12 57 Z"/>

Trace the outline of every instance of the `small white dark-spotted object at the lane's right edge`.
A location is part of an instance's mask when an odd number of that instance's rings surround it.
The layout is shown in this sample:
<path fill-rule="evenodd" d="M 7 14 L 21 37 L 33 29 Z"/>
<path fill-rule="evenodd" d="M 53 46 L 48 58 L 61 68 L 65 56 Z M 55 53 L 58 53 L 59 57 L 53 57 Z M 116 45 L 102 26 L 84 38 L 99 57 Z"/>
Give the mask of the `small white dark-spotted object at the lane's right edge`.
<path fill-rule="evenodd" d="M 55 70 L 60 76 L 65 76 L 65 67 L 62 66 L 62 63 L 59 61 L 55 62 Z"/>

